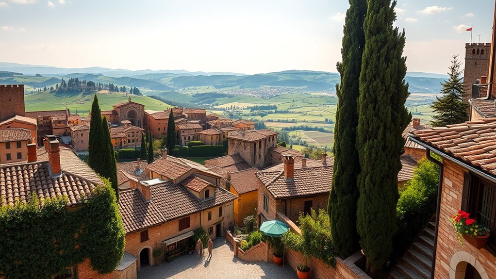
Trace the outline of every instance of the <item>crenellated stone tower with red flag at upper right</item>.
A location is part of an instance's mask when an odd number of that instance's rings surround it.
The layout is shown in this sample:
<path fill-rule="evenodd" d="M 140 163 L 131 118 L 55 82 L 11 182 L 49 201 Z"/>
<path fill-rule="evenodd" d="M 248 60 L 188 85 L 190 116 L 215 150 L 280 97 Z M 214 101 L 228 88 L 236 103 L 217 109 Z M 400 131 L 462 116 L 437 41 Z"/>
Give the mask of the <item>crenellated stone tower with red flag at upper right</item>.
<path fill-rule="evenodd" d="M 463 96 L 463 101 L 467 102 L 472 98 L 472 84 L 477 83 L 481 77 L 487 78 L 490 54 L 490 43 L 465 44 L 465 72 L 463 75 L 465 96 Z"/>

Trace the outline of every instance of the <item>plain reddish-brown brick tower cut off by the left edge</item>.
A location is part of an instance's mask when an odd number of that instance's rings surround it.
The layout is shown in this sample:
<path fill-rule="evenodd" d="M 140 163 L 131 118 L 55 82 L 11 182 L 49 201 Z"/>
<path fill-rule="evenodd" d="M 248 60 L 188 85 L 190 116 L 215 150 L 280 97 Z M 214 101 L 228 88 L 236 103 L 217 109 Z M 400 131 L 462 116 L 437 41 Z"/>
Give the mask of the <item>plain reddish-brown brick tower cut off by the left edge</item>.
<path fill-rule="evenodd" d="M 25 113 L 24 85 L 0 85 L 0 121 Z"/>

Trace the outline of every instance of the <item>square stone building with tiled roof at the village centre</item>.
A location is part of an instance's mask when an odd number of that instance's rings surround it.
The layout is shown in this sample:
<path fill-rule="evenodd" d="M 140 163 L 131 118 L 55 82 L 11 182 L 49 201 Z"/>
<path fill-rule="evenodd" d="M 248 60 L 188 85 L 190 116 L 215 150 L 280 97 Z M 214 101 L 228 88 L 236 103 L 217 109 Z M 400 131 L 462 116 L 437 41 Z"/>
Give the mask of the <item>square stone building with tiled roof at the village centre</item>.
<path fill-rule="evenodd" d="M 239 154 L 251 167 L 266 167 L 270 164 L 268 153 L 276 146 L 277 134 L 265 129 L 232 132 L 227 137 L 228 155 Z"/>

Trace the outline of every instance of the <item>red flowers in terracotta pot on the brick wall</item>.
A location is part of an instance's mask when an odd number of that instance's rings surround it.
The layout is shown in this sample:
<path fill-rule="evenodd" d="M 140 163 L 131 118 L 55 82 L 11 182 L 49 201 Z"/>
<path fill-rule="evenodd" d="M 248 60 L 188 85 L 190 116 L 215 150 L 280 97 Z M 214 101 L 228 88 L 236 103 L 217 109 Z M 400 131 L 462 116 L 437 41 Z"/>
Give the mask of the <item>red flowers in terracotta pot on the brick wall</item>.
<path fill-rule="evenodd" d="M 481 249 L 488 243 L 490 231 L 489 229 L 476 221 L 476 219 L 470 218 L 470 214 L 465 211 L 459 210 L 455 215 L 449 218 L 449 221 L 453 224 L 456 231 L 456 237 L 461 245 L 463 245 L 463 239 L 467 240 L 468 243 L 472 244 L 477 249 Z"/>

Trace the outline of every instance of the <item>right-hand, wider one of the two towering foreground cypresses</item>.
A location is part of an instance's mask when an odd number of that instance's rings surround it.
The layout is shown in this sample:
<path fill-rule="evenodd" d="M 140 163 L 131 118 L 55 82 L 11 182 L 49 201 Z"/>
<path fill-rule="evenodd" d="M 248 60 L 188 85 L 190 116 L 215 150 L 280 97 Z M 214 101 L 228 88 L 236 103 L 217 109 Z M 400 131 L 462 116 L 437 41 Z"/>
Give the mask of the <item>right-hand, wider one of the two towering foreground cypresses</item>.
<path fill-rule="evenodd" d="M 375 275 L 392 252 L 397 229 L 397 175 L 405 144 L 401 133 L 411 115 L 405 108 L 405 32 L 393 28 L 396 1 L 367 3 L 358 99 L 357 149 L 361 172 L 357 183 L 357 229 L 367 257 L 367 272 Z"/>

